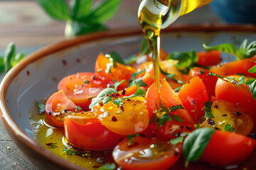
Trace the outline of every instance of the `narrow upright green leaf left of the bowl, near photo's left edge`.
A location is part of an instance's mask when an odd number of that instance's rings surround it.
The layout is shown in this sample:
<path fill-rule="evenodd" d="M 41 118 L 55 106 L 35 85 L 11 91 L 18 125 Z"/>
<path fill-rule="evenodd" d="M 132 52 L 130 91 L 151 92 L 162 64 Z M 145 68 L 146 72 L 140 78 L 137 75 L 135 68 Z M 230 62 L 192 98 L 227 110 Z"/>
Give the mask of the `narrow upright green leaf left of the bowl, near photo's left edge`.
<path fill-rule="evenodd" d="M 16 47 L 14 42 L 10 42 L 7 45 L 6 50 L 4 52 L 4 71 L 8 72 L 11 69 L 11 60 L 14 60 L 16 56 Z"/>

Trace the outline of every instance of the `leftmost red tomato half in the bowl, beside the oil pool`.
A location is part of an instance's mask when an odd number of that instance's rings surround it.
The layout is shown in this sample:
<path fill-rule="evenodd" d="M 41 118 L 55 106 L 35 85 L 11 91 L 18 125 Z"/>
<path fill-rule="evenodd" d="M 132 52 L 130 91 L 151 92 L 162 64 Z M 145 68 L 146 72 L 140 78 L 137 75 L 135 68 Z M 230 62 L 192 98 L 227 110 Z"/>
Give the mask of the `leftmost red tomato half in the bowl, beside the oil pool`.
<path fill-rule="evenodd" d="M 46 118 L 54 126 L 63 127 L 64 117 L 74 113 L 76 107 L 63 91 L 57 91 L 46 101 Z"/>

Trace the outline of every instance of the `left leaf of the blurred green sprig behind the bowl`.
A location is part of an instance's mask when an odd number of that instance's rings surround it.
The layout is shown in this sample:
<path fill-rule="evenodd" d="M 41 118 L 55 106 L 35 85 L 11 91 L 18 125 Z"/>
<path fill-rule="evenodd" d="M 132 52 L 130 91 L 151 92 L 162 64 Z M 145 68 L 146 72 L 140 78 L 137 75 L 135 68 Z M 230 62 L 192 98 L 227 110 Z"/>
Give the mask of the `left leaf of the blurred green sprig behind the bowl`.
<path fill-rule="evenodd" d="M 70 21 L 70 11 L 68 5 L 63 0 L 36 0 L 38 4 L 50 15 L 51 17 L 61 20 Z"/>

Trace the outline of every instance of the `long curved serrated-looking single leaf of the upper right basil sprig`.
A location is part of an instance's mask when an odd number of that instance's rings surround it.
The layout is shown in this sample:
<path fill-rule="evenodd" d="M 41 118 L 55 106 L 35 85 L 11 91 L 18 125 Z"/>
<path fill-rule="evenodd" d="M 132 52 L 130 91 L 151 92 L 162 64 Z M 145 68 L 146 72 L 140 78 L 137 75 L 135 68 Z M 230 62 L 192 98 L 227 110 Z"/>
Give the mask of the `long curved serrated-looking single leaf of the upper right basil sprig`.
<path fill-rule="evenodd" d="M 221 52 L 227 52 L 231 55 L 235 55 L 236 57 L 241 58 L 238 48 L 235 47 L 235 45 L 232 45 L 230 43 L 224 43 L 224 44 L 215 45 L 215 46 L 211 46 L 211 47 L 206 44 L 203 44 L 203 48 L 208 51 L 209 50 L 218 50 Z"/>

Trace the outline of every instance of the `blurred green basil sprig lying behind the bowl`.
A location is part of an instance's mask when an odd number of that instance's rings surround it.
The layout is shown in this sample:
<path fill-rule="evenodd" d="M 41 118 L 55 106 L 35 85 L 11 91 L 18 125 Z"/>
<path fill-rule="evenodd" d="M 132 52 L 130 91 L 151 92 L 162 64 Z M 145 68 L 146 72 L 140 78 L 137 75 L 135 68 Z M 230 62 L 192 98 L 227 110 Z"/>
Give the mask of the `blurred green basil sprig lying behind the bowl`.
<path fill-rule="evenodd" d="M 65 21 L 65 37 L 107 30 L 104 23 L 117 12 L 121 0 L 36 0 L 48 15 Z"/>

